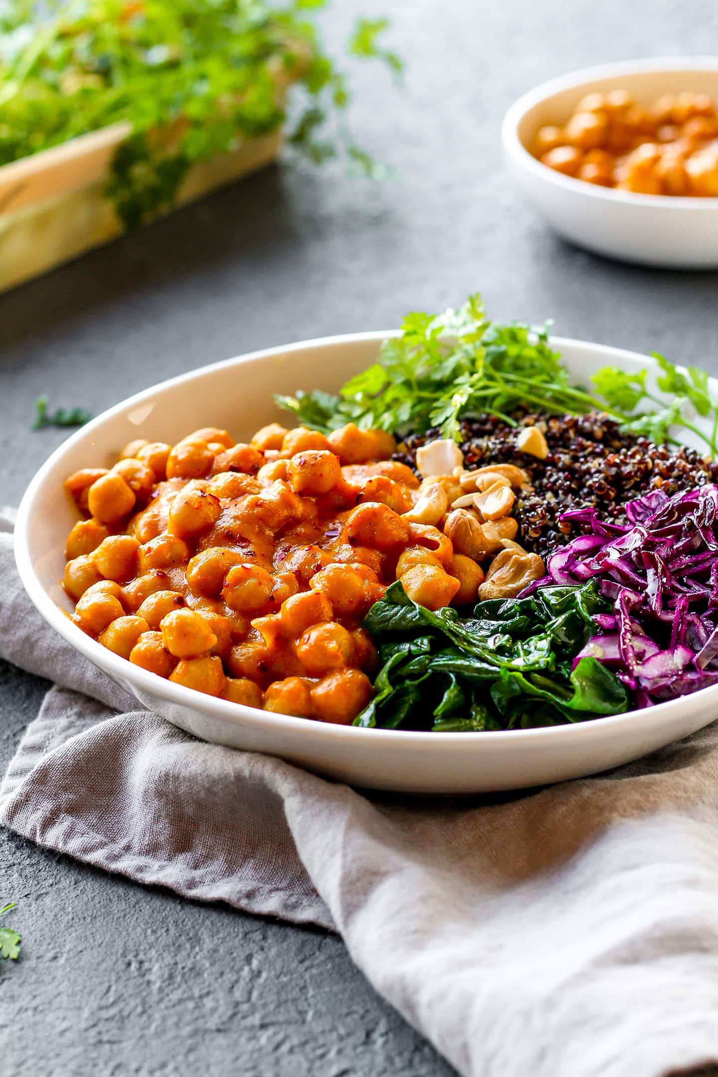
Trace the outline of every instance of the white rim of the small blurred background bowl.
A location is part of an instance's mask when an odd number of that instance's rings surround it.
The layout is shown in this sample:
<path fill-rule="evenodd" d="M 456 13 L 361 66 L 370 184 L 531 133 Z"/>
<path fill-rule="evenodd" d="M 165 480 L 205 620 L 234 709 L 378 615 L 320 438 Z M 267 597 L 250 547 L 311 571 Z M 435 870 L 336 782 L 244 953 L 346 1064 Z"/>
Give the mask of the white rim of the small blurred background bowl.
<path fill-rule="evenodd" d="M 599 79 L 620 78 L 630 74 L 659 74 L 661 71 L 718 71 L 718 56 L 663 56 L 653 59 L 616 60 L 611 64 L 600 64 L 594 67 L 581 68 L 567 74 L 549 79 L 533 89 L 522 94 L 504 114 L 502 122 L 502 142 L 511 160 L 519 167 L 531 172 L 538 180 L 551 183 L 574 194 L 581 193 L 613 205 L 644 206 L 657 209 L 704 210 L 710 212 L 718 209 L 718 196 L 699 198 L 690 195 L 645 195 L 633 191 L 617 191 L 614 187 L 602 187 L 595 183 L 586 183 L 572 176 L 564 176 L 553 168 L 548 168 L 537 160 L 519 138 L 519 124 L 526 112 L 536 104 L 553 97 L 564 89 L 589 88 L 590 83 Z"/>

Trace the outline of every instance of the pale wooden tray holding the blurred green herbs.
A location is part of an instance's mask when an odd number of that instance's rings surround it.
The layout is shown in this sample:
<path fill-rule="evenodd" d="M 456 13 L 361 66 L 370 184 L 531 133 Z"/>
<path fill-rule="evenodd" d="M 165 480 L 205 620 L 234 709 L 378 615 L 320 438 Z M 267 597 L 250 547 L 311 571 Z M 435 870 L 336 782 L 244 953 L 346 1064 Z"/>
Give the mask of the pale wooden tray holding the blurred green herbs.
<path fill-rule="evenodd" d="M 0 292 L 123 234 L 104 190 L 128 135 L 127 124 L 113 124 L 0 167 Z M 193 165 L 172 208 L 264 168 L 281 142 L 276 131 Z"/>

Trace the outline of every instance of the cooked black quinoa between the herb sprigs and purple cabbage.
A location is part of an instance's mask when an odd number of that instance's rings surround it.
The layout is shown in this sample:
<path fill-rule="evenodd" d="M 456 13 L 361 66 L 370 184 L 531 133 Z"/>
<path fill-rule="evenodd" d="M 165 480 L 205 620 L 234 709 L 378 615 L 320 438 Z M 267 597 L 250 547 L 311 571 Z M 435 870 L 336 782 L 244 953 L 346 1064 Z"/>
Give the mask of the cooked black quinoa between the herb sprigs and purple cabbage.
<path fill-rule="evenodd" d="M 552 416 L 547 412 L 512 416 L 518 429 L 496 416 L 482 415 L 461 424 L 464 466 L 492 463 L 523 467 L 532 489 L 518 494 L 512 515 L 520 542 L 544 560 L 577 532 L 559 516 L 572 508 L 593 505 L 602 519 L 624 523 L 623 506 L 661 487 L 668 494 L 718 481 L 718 463 L 694 449 L 654 445 L 647 437 L 622 433 L 607 415 Z M 539 424 L 549 447 L 546 460 L 516 448 L 522 426 Z M 394 459 L 416 470 L 417 449 L 440 437 L 438 430 L 406 437 Z"/>

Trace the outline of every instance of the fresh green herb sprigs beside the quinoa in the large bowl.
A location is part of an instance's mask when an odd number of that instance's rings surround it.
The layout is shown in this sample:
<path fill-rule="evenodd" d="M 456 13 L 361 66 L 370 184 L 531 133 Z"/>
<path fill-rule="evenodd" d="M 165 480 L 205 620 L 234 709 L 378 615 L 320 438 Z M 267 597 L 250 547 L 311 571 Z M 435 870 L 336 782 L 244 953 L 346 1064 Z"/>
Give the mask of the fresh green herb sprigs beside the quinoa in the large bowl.
<path fill-rule="evenodd" d="M 682 425 L 718 453 L 718 402 L 710 400 L 705 372 L 688 367 L 684 374 L 656 354 L 662 370 L 659 389 L 677 394 L 668 406 L 647 389 L 647 370 L 625 374 L 603 367 L 593 378 L 599 394 L 593 395 L 572 384 L 561 356 L 549 346 L 548 330 L 548 324 L 492 322 L 481 297 L 473 295 L 460 310 L 407 314 L 400 336 L 385 340 L 378 362 L 337 395 L 299 391 L 276 398 L 298 422 L 325 433 L 348 422 L 399 436 L 438 426 L 442 437 L 460 440 L 460 421 L 470 416 L 495 415 L 516 425 L 512 412 L 518 408 L 553 415 L 605 411 L 625 430 L 654 442 L 670 439 L 670 429 Z M 710 437 L 686 418 L 687 404 L 701 416 L 713 416 Z M 644 410 L 636 414 L 639 406 Z"/>

